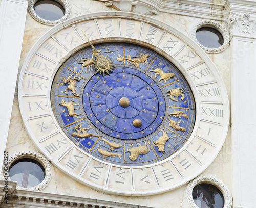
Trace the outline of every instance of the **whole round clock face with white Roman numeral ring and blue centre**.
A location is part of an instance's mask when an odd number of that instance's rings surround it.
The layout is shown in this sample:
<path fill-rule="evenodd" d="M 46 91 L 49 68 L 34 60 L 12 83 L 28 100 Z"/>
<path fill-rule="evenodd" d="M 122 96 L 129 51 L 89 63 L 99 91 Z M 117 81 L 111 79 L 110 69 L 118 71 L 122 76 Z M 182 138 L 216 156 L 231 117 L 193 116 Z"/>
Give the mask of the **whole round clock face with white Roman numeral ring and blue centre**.
<path fill-rule="evenodd" d="M 163 23 L 121 14 L 69 20 L 41 38 L 20 78 L 20 109 L 37 147 L 81 183 L 123 195 L 161 193 L 218 154 L 226 91 L 193 42 Z"/>

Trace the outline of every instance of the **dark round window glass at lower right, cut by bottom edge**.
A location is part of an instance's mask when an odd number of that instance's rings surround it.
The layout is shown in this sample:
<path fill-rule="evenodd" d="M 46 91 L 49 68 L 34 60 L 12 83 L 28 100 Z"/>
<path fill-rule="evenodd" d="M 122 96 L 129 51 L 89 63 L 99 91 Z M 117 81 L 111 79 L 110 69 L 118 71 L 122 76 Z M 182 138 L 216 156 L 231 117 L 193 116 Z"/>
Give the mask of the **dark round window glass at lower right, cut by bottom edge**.
<path fill-rule="evenodd" d="M 211 184 L 199 184 L 194 187 L 193 199 L 199 208 L 223 208 L 224 197 L 221 191 Z"/>

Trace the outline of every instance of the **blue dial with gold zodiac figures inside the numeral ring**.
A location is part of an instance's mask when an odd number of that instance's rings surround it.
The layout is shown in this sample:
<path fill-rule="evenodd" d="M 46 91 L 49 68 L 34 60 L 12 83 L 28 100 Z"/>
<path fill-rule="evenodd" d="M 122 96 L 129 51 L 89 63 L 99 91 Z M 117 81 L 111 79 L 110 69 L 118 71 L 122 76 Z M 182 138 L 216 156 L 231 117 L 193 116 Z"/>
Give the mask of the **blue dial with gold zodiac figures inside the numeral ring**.
<path fill-rule="evenodd" d="M 170 157 L 189 139 L 196 117 L 193 94 L 177 67 L 132 44 L 78 51 L 58 69 L 51 101 L 75 145 L 123 166 Z"/>

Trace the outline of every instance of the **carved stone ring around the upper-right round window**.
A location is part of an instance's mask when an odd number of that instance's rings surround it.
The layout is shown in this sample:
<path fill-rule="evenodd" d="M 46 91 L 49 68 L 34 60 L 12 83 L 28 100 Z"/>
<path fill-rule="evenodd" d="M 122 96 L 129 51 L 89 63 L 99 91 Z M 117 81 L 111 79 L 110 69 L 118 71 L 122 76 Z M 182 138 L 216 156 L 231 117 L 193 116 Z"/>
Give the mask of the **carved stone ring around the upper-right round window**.
<path fill-rule="evenodd" d="M 216 30 L 218 30 L 221 35 L 223 36 L 223 45 L 218 47 L 218 48 L 208 48 L 203 46 L 201 43 L 198 42 L 197 37 L 196 37 L 196 32 L 198 29 L 202 28 L 202 27 L 210 27 L 210 28 L 214 28 Z M 229 33 L 227 31 L 227 29 L 220 23 L 218 23 L 217 21 L 214 20 L 203 20 L 198 22 L 194 28 L 191 31 L 191 38 L 207 53 L 210 54 L 215 54 L 215 53 L 219 53 L 223 50 L 225 50 L 227 48 L 227 46 L 229 45 Z"/>

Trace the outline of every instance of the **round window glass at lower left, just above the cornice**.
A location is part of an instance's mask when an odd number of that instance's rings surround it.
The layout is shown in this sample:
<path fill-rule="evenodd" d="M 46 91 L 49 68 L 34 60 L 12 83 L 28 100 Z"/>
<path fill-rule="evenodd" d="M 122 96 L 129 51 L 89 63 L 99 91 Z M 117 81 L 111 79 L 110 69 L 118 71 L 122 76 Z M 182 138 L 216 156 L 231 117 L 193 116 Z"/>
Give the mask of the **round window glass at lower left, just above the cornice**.
<path fill-rule="evenodd" d="M 24 158 L 15 161 L 9 169 L 9 176 L 23 188 L 37 186 L 45 178 L 44 167 L 36 160 Z"/>

